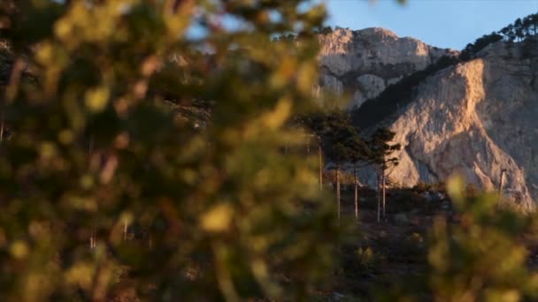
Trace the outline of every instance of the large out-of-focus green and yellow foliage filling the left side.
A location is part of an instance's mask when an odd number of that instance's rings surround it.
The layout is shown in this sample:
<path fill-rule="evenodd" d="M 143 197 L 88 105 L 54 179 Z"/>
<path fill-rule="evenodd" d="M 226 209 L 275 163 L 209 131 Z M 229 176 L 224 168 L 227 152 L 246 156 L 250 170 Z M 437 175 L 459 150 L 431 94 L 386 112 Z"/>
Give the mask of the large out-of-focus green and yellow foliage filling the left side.
<path fill-rule="evenodd" d="M 0 13 L 2 300 L 300 299 L 329 276 L 334 203 L 319 202 L 316 165 L 281 153 L 304 142 L 283 125 L 313 99 L 323 5 Z M 272 42 L 289 32 L 304 34 Z"/>

